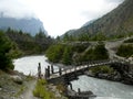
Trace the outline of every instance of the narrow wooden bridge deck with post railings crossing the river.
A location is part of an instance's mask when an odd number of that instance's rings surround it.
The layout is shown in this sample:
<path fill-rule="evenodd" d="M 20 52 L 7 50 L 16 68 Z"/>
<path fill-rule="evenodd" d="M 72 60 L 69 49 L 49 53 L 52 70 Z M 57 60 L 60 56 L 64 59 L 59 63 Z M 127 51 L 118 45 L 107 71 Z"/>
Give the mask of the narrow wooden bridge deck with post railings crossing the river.
<path fill-rule="evenodd" d="M 45 78 L 53 79 L 53 78 L 58 78 L 64 75 L 89 70 L 89 68 L 91 67 L 111 65 L 115 63 L 125 64 L 125 62 L 122 62 L 122 61 L 121 62 L 120 61 L 92 61 L 92 62 L 80 63 L 82 65 L 73 66 L 71 68 L 63 68 L 63 67 L 59 68 L 59 72 L 54 72 L 53 66 L 51 65 L 51 66 L 48 66 L 48 68 L 45 68 Z"/>

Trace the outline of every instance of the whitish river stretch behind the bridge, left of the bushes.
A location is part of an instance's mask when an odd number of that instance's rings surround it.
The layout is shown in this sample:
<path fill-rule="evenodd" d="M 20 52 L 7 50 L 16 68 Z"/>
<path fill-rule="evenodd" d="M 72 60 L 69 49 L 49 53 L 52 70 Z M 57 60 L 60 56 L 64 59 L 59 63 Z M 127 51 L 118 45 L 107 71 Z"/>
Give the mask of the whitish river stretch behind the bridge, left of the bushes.
<path fill-rule="evenodd" d="M 41 70 L 44 73 L 44 68 L 50 66 L 45 56 L 25 56 L 13 61 L 14 70 L 19 70 L 24 75 L 37 75 L 39 63 L 41 64 Z M 54 66 L 58 69 L 58 66 Z"/>

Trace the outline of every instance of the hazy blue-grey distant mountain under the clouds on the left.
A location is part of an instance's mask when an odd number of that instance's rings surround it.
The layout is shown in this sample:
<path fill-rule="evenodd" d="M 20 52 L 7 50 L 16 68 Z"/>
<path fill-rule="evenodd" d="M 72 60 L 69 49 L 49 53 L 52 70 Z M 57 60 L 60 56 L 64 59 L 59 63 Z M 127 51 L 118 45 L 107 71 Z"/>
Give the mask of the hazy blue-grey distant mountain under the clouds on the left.
<path fill-rule="evenodd" d="M 14 18 L 4 18 L 0 16 L 0 29 L 7 30 L 11 28 L 13 30 L 22 30 L 23 32 L 31 33 L 31 35 L 35 35 L 40 30 L 47 31 L 43 28 L 43 23 L 39 19 L 14 19 Z"/>

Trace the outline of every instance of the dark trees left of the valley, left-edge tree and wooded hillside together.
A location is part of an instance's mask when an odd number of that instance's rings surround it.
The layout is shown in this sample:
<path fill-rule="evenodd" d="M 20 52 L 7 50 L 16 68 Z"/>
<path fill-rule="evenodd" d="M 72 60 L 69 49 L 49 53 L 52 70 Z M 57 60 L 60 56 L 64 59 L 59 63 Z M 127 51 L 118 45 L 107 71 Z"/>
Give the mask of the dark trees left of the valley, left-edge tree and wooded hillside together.
<path fill-rule="evenodd" d="M 41 30 L 35 36 L 10 28 L 0 31 L 0 69 L 13 69 L 12 59 L 23 55 L 44 54 L 54 40 Z"/>

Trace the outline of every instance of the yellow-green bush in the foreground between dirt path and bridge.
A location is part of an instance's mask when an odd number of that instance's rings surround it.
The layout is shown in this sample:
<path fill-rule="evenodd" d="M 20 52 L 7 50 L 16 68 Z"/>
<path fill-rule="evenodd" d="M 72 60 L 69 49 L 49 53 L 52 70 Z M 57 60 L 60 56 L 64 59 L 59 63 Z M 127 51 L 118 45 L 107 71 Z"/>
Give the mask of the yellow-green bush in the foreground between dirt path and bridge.
<path fill-rule="evenodd" d="M 63 90 L 63 86 L 55 87 L 48 84 L 44 79 L 39 79 L 33 90 L 33 96 L 41 99 L 68 99 L 61 95 Z"/>

